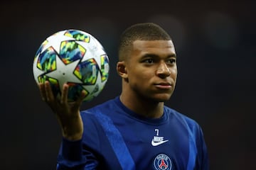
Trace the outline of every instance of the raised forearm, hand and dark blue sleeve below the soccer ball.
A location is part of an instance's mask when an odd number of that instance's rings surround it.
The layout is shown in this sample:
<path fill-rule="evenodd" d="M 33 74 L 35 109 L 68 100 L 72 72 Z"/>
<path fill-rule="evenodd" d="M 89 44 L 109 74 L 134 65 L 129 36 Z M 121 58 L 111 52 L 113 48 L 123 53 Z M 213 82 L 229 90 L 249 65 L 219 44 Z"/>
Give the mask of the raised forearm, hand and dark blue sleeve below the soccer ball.
<path fill-rule="evenodd" d="M 90 153 L 82 151 L 83 123 L 80 106 L 82 99 L 85 98 L 85 91 L 82 91 L 77 101 L 70 103 L 68 102 L 68 84 L 63 85 L 60 99 L 53 95 L 48 81 L 45 84 L 39 84 L 38 87 L 42 100 L 50 106 L 55 114 L 63 135 L 57 169 L 85 169 L 85 166 L 91 166 L 87 164 L 87 156 Z M 95 162 L 92 166 L 97 165 Z"/>

